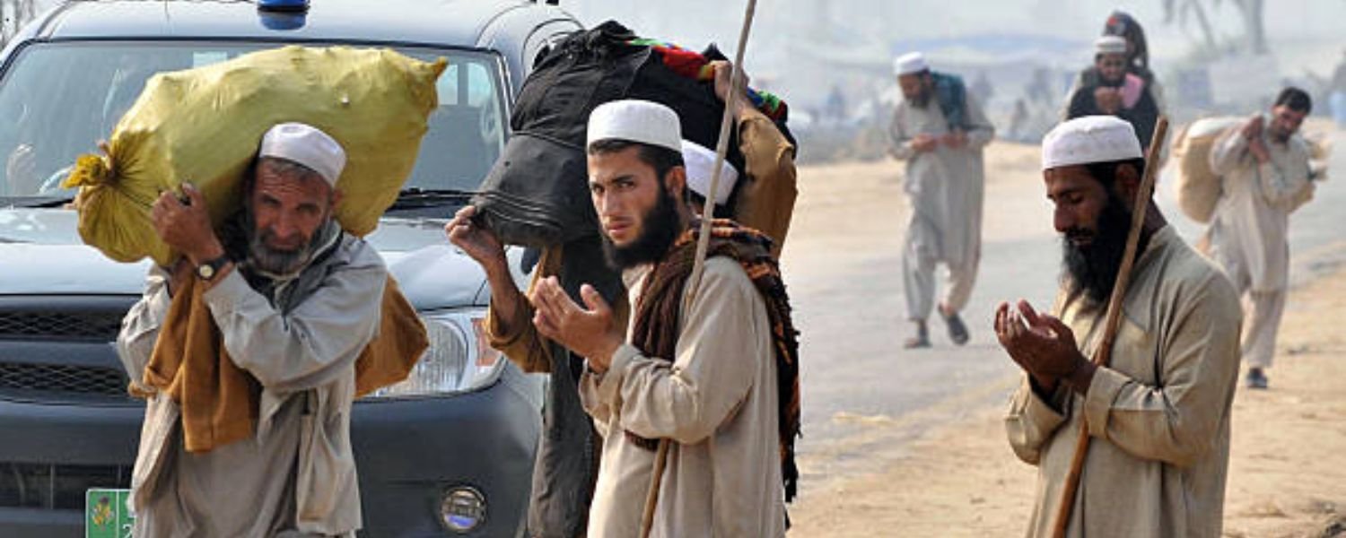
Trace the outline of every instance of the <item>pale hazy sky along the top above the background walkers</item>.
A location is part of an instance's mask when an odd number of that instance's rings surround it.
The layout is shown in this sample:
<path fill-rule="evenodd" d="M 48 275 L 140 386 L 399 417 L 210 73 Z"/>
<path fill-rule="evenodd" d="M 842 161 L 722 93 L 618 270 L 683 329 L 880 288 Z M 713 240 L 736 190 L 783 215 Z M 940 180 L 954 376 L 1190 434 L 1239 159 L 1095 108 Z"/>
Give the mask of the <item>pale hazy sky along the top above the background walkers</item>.
<path fill-rule="evenodd" d="M 1280 73 L 1302 75 L 1311 69 L 1330 74 L 1346 47 L 1346 0 L 1265 1 L 1267 35 Z M 1233 40 L 1242 34 L 1232 1 L 1219 3 L 1219 8 L 1213 0 L 1203 3 L 1217 39 Z M 641 35 L 692 48 L 716 42 L 731 55 L 746 5 L 747 0 L 561 0 L 561 7 L 586 26 L 616 19 Z M 826 87 L 817 81 L 835 81 L 833 66 L 883 69 L 896 42 L 1046 36 L 1055 43 L 1055 55 L 1027 48 L 1019 50 L 1020 59 L 1027 55 L 1051 67 L 1078 69 L 1092 62 L 1092 42 L 1117 8 L 1144 26 L 1151 63 L 1160 73 L 1189 55 L 1198 40 L 1195 26 L 1164 24 L 1163 0 L 758 0 L 746 65 L 750 73 L 778 79 L 777 89 L 804 101 L 821 100 Z M 1000 52 L 981 50 L 972 56 L 995 61 L 995 54 Z M 938 63 L 938 55 L 933 58 Z"/>

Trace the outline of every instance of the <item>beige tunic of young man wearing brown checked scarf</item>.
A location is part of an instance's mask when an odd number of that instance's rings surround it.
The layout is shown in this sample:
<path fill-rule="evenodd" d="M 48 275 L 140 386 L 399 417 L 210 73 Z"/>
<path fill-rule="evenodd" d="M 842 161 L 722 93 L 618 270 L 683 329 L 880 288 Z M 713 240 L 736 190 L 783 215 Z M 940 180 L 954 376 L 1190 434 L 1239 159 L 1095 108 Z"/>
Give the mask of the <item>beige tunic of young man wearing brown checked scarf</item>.
<path fill-rule="evenodd" d="M 649 266 L 623 274 L 638 304 Z M 634 323 L 627 325 L 630 327 Z M 625 438 L 672 438 L 653 537 L 783 537 L 775 356 L 766 301 L 738 262 L 707 261 L 684 303 L 677 356 L 626 344 L 604 375 L 586 371 L 580 397 L 604 436 L 590 535 L 637 537 L 654 452 Z"/>

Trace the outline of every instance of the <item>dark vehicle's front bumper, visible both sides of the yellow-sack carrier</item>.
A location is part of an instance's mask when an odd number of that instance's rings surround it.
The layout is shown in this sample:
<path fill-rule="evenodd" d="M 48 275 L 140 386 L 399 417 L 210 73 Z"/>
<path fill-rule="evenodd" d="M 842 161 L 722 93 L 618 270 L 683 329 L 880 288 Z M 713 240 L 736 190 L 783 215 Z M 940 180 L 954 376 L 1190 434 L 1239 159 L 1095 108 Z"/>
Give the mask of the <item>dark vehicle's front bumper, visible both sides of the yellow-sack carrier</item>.
<path fill-rule="evenodd" d="M 541 424 L 541 381 L 506 364 L 499 381 L 448 398 L 357 402 L 351 444 L 365 537 L 516 537 L 522 533 Z M 83 535 L 83 491 L 125 488 L 140 405 L 0 398 L 0 537 Z M 20 472 L 24 476 L 20 482 Z M 440 495 L 471 486 L 485 522 L 439 523 Z"/>

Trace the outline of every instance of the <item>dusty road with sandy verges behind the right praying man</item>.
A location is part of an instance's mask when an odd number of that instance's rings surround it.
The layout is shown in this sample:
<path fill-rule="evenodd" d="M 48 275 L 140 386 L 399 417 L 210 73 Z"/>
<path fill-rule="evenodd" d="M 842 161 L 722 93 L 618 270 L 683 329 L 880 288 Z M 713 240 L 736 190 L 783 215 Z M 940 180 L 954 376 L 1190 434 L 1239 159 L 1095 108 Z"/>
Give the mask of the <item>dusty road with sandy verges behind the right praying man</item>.
<path fill-rule="evenodd" d="M 1343 161 L 1338 156 L 1335 169 L 1346 171 Z M 1005 299 L 1049 303 L 1055 291 L 1059 253 L 1038 148 L 988 149 L 984 258 L 966 315 L 973 340 L 961 348 L 948 344 L 935 321 L 934 350 L 898 350 L 906 336 L 896 269 L 907 211 L 899 169 L 801 169 L 782 260 L 805 336 L 805 480 L 790 535 L 1020 535 L 1035 469 L 1004 440 L 1000 417 L 1018 373 L 989 334 L 989 312 Z M 1337 183 L 1320 187 L 1292 219 L 1296 288 L 1272 390 L 1240 389 L 1234 401 L 1229 537 L 1318 537 L 1346 527 L 1346 332 L 1338 328 L 1346 234 L 1335 203 L 1346 200 L 1346 178 L 1334 174 Z M 1180 233 L 1199 230 L 1182 222 L 1166 194 L 1160 200 Z M 1335 229 L 1324 226 L 1331 222 Z"/>

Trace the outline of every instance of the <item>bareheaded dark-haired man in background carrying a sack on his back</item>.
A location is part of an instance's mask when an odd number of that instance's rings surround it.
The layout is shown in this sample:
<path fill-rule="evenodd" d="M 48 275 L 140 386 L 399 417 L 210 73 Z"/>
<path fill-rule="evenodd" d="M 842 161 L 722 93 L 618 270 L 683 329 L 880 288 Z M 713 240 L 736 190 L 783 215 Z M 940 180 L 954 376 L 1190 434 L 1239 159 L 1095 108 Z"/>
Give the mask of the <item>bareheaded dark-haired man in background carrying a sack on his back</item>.
<path fill-rule="evenodd" d="M 1246 383 L 1267 387 L 1265 369 L 1276 354 L 1276 331 L 1289 285 L 1289 214 L 1314 195 L 1308 143 L 1298 134 L 1312 104 L 1287 87 L 1271 116 L 1256 114 L 1215 141 L 1210 167 L 1224 178 L 1211 221 L 1211 257 L 1246 295 L 1244 359 Z"/>

